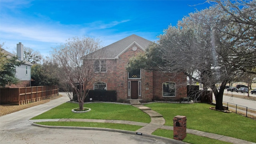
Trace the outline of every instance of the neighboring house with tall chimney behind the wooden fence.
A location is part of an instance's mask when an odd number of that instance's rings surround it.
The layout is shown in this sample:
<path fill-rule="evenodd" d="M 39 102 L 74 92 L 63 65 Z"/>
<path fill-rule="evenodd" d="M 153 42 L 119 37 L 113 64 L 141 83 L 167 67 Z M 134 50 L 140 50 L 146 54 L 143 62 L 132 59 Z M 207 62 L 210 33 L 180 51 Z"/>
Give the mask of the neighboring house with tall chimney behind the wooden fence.
<path fill-rule="evenodd" d="M 7 52 L 6 50 L 2 50 L 5 54 L 7 54 L 7 58 L 11 58 L 15 56 L 14 54 Z M 17 44 L 17 56 L 19 61 L 23 61 L 23 44 L 19 42 Z M 18 87 L 26 87 L 30 86 L 31 83 L 31 66 L 33 65 L 30 62 L 24 61 L 24 64 L 20 66 L 16 66 L 16 77 L 20 80 L 20 82 L 16 85 L 12 84 L 8 86 L 10 88 L 18 88 Z"/>

